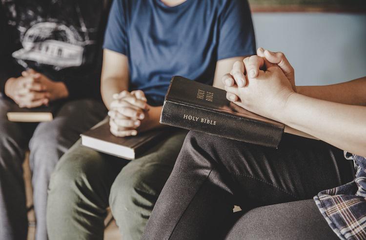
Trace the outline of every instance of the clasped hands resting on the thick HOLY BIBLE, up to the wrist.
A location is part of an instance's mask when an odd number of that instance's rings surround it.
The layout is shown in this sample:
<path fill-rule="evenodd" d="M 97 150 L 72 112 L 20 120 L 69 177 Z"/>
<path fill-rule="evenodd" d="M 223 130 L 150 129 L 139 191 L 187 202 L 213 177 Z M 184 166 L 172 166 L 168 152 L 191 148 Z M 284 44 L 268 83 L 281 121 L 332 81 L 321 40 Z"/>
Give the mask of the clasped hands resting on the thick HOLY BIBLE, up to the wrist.
<path fill-rule="evenodd" d="M 296 90 L 294 69 L 285 55 L 263 48 L 257 50 L 257 56 L 235 62 L 222 80 L 228 100 L 278 121 Z"/>

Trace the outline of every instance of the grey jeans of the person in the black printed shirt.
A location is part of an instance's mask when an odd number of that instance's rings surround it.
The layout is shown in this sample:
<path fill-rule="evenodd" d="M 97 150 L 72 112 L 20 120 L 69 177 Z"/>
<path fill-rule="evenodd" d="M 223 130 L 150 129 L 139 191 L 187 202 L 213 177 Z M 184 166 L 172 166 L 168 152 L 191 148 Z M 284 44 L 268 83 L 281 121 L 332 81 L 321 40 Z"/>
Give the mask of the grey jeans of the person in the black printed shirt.
<path fill-rule="evenodd" d="M 50 175 L 62 154 L 105 116 L 97 100 L 65 102 L 53 121 L 17 123 L 6 113 L 15 103 L 0 97 L 0 239 L 25 240 L 28 223 L 22 163 L 29 143 L 36 239 L 47 239 L 46 201 Z"/>

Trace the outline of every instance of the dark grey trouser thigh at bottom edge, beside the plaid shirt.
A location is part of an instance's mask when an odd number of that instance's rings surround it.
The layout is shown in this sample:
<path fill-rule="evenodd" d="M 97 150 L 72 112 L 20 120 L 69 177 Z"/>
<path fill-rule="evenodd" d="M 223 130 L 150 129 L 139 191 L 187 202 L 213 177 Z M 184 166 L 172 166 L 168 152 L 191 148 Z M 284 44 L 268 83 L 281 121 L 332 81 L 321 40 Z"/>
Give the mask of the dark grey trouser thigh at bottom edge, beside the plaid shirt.
<path fill-rule="evenodd" d="M 226 237 L 231 239 L 338 239 L 314 200 L 255 208 L 244 213 Z"/>

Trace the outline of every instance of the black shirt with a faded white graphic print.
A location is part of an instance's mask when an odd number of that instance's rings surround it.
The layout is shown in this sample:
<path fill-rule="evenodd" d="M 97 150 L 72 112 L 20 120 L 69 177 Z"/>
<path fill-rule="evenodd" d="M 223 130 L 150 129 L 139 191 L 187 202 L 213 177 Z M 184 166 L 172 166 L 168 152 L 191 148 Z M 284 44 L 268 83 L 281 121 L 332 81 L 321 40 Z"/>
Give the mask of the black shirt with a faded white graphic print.
<path fill-rule="evenodd" d="M 27 68 L 62 81 L 70 98 L 100 97 L 103 0 L 0 0 L 0 90 Z"/>

